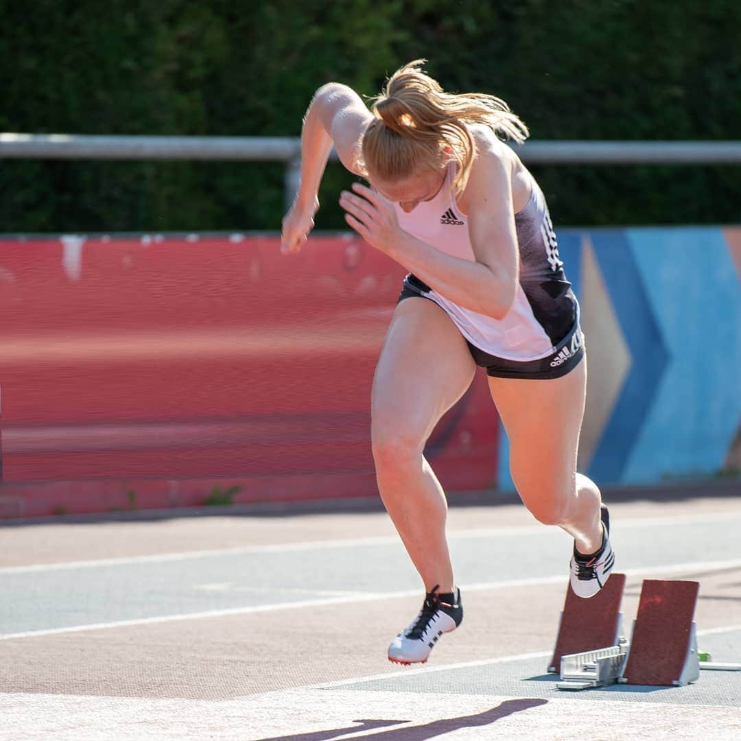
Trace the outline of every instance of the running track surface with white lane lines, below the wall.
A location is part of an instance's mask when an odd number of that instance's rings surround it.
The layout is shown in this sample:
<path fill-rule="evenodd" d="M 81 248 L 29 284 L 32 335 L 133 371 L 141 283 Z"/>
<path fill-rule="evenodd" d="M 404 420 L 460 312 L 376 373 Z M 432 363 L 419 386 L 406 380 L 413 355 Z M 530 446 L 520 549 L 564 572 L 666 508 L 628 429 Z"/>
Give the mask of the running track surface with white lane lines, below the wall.
<path fill-rule="evenodd" d="M 702 651 L 741 662 L 741 486 L 616 492 L 622 611 L 697 579 Z M 0 528 L 0 740 L 741 738 L 741 672 L 565 693 L 546 674 L 568 536 L 453 506 L 465 620 L 427 665 L 388 642 L 422 588 L 378 508 L 209 509 Z"/>

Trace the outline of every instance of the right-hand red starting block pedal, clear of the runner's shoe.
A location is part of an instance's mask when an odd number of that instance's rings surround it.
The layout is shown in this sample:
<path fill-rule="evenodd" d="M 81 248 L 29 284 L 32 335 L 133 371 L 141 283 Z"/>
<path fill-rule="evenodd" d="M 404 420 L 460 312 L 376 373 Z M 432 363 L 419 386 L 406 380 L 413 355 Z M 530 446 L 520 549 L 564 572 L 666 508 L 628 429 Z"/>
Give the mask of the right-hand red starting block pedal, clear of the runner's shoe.
<path fill-rule="evenodd" d="M 694 636 L 700 582 L 645 579 L 620 682 L 684 685 L 699 674 Z"/>

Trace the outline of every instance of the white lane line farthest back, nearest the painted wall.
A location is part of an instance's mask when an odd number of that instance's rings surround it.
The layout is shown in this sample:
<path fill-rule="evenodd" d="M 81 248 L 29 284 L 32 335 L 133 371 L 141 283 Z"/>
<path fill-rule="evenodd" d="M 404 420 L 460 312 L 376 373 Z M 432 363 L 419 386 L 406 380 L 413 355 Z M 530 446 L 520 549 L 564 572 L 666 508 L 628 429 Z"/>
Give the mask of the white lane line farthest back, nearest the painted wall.
<path fill-rule="evenodd" d="M 741 513 L 708 513 L 704 515 L 687 514 L 674 517 L 646 517 L 641 519 L 625 519 L 620 521 L 620 528 L 656 528 L 673 527 L 683 524 L 708 524 L 721 522 L 731 525 L 734 519 L 741 519 Z M 542 534 L 547 532 L 545 525 L 511 525 L 496 528 L 468 528 L 451 530 L 448 538 L 486 538 L 511 536 L 519 537 L 527 534 Z M 185 561 L 187 559 L 207 558 L 210 556 L 230 556 L 238 554 L 270 554 L 292 553 L 296 551 L 320 551 L 327 548 L 357 548 L 363 545 L 401 545 L 398 535 L 369 536 L 367 538 L 343 538 L 331 540 L 309 540 L 296 543 L 279 543 L 270 545 L 235 545 L 231 548 L 208 548 L 200 551 L 177 551 L 166 554 L 150 554 L 148 556 L 122 556 L 119 558 L 90 559 L 81 561 L 63 561 L 54 563 L 36 563 L 24 566 L 0 567 L 0 576 L 5 574 L 30 574 L 34 571 L 59 571 L 75 568 L 105 568 L 138 563 L 153 563 L 167 561 Z"/>

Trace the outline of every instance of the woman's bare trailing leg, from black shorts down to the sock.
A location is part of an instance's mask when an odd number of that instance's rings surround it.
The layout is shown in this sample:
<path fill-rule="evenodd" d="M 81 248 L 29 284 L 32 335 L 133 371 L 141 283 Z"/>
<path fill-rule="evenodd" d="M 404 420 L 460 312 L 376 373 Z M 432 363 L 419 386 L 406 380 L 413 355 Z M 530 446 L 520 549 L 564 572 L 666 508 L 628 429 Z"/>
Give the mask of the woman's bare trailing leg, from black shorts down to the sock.
<path fill-rule="evenodd" d="M 510 443 L 510 471 L 522 501 L 547 525 L 574 537 L 580 554 L 602 546 L 597 485 L 576 473 L 576 452 L 584 416 L 586 357 L 556 379 L 489 377 Z"/>

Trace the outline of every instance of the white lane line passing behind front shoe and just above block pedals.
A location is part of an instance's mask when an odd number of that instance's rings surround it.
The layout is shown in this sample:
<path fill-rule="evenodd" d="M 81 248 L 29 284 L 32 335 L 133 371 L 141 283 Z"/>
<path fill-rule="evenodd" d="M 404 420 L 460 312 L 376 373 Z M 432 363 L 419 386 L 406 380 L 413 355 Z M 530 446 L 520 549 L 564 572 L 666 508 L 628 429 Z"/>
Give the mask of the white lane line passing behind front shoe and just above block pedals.
<path fill-rule="evenodd" d="M 668 574 L 682 574 L 684 572 L 697 573 L 698 571 L 717 571 L 720 569 L 741 568 L 741 559 L 731 561 L 704 561 L 688 562 L 683 564 L 671 564 L 665 566 L 651 566 L 649 568 L 623 569 L 622 574 L 626 576 L 665 576 Z M 508 589 L 527 586 L 542 586 L 549 584 L 565 584 L 567 577 L 564 574 L 553 576 L 533 577 L 532 579 L 508 579 L 499 582 L 484 582 L 479 584 L 462 584 L 464 591 L 489 591 L 493 589 Z M 276 591 L 279 588 L 276 587 Z M 312 607 L 323 607 L 324 605 L 348 605 L 355 602 L 373 602 L 376 599 L 419 597 L 419 589 L 409 589 L 395 592 L 348 592 L 339 597 L 325 597 L 322 599 L 305 599 L 299 602 L 273 602 L 267 605 L 250 605 L 249 607 L 225 608 L 223 610 L 207 610 L 201 612 L 190 612 L 174 615 L 160 615 L 158 617 L 143 617 L 130 620 L 115 620 L 112 622 L 95 622 L 87 625 L 71 625 L 67 628 L 47 628 L 40 631 L 26 631 L 23 633 L 0 634 L 1 640 L 15 638 L 32 638 L 36 636 L 50 636 L 61 633 L 79 633 L 82 631 L 99 631 L 106 628 L 124 628 L 130 625 L 152 625 L 158 622 L 176 622 L 179 620 L 197 620 L 211 617 L 225 617 L 227 615 L 247 615 L 257 612 L 273 612 L 276 610 L 292 610 Z"/>

